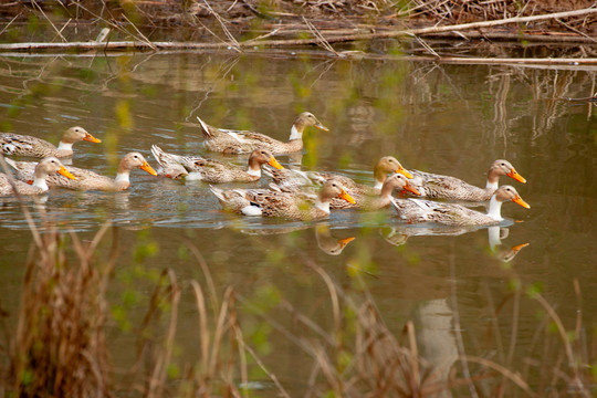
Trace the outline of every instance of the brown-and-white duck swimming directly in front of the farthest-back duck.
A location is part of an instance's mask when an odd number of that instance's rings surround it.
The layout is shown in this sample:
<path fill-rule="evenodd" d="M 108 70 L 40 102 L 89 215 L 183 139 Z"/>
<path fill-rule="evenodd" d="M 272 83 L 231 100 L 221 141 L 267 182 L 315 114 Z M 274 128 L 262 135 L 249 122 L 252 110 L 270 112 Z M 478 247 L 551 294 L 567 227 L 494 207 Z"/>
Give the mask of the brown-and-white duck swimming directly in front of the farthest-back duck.
<path fill-rule="evenodd" d="M 201 157 L 179 156 L 161 150 L 157 145 L 151 146 L 151 154 L 160 165 L 158 176 L 184 176 L 187 180 L 202 180 L 206 182 L 251 182 L 261 178 L 261 167 L 265 164 L 275 169 L 283 169 L 282 165 L 268 149 L 255 149 L 249 157 L 248 167 L 223 163 Z M 182 167 L 180 170 L 178 167 Z"/>

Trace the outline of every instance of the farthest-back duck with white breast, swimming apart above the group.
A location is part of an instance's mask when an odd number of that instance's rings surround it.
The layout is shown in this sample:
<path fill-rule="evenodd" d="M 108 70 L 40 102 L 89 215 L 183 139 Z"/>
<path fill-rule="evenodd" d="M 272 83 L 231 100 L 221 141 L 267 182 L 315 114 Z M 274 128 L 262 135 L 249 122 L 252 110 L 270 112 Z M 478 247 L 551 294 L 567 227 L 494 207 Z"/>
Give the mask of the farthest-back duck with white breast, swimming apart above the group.
<path fill-rule="evenodd" d="M 290 154 L 303 149 L 303 132 L 313 126 L 324 132 L 325 127 L 311 112 L 300 114 L 291 127 L 287 143 L 274 139 L 261 133 L 223 129 L 208 125 L 197 117 L 205 136 L 206 148 L 222 154 L 250 154 L 255 149 L 266 149 L 273 155 Z"/>

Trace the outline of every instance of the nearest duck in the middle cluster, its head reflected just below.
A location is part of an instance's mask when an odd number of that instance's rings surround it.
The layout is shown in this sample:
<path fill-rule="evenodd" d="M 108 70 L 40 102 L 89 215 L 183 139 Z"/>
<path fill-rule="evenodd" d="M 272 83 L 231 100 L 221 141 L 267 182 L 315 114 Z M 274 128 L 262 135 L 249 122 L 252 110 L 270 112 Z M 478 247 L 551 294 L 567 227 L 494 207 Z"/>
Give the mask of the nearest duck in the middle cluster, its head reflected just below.
<path fill-rule="evenodd" d="M 279 217 L 289 220 L 313 221 L 329 217 L 332 198 L 354 202 L 353 197 L 337 181 L 323 185 L 315 205 L 310 205 L 300 195 L 266 189 L 222 190 L 210 187 L 222 208 L 242 216 Z"/>

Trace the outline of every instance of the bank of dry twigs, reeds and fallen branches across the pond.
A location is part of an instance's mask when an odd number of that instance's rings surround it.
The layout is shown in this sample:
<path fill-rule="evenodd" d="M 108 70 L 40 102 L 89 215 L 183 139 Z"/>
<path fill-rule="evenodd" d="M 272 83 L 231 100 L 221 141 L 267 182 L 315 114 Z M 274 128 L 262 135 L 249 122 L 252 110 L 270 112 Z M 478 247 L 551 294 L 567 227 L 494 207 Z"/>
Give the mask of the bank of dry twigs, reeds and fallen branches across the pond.
<path fill-rule="evenodd" d="M 0 50 L 231 48 L 242 51 L 254 46 L 316 44 L 335 55 L 345 55 L 331 44 L 416 38 L 429 55 L 440 57 L 422 38 L 594 43 L 597 9 L 586 0 L 17 0 L 0 4 L 0 18 L 6 22 L 1 31 L 4 35 L 0 34 L 4 43 L 22 41 L 10 29 L 23 22 L 30 30 L 44 25 L 53 36 L 44 41 L 45 45 L 0 43 Z M 84 23 L 98 24 L 105 30 L 97 29 L 93 36 L 85 38 L 81 33 L 74 38 L 69 34 L 72 30 L 78 32 L 77 27 Z M 177 29 L 155 34 L 163 28 Z M 153 38 L 156 35 L 164 39 L 157 41 Z"/>

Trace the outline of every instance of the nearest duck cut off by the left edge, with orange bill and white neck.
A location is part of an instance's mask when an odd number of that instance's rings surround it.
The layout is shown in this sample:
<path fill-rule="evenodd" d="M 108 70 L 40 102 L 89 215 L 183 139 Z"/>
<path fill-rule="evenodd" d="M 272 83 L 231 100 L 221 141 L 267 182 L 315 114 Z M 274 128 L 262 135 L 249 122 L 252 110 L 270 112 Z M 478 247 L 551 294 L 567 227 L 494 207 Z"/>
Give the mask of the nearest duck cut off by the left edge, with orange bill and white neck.
<path fill-rule="evenodd" d="M 69 179 L 75 177 L 66 170 L 62 163 L 54 156 L 45 157 L 34 166 L 33 179 L 30 184 L 13 180 L 14 188 L 10 184 L 9 177 L 6 174 L 0 174 L 0 196 L 14 195 L 14 189 L 19 195 L 40 195 L 48 191 L 49 187 L 45 181 L 48 176 L 61 174 Z"/>

